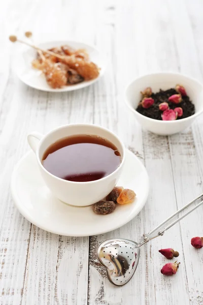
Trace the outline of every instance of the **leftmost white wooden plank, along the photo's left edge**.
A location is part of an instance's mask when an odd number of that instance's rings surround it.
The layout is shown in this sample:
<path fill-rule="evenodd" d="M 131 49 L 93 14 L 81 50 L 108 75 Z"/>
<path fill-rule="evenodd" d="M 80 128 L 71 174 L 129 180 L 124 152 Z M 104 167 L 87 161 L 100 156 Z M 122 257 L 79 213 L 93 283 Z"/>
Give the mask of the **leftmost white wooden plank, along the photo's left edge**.
<path fill-rule="evenodd" d="M 29 1 L 27 1 L 25 9 L 29 7 L 29 4 Z M 0 295 L 2 304 L 20 304 L 29 245 L 30 223 L 13 206 L 10 196 L 10 177 L 13 166 L 25 153 L 26 148 L 20 138 L 20 128 L 17 128 L 17 114 L 22 112 L 18 99 L 22 99 L 22 95 L 19 96 L 17 93 L 16 76 L 11 73 L 11 45 L 8 41 L 8 33 L 10 29 L 15 32 L 20 22 L 18 17 L 23 15 L 23 11 L 19 11 L 17 16 L 11 13 L 10 9 L 11 3 L 5 2 L 0 12 L 1 28 L 4 29 L 6 21 L 8 22 L 5 31 L 0 34 L 2 46 L 0 56 L 2 63 L 0 67 Z M 12 18 L 12 22 L 10 22 L 10 18 Z M 18 148 L 17 151 L 16 148 Z"/>

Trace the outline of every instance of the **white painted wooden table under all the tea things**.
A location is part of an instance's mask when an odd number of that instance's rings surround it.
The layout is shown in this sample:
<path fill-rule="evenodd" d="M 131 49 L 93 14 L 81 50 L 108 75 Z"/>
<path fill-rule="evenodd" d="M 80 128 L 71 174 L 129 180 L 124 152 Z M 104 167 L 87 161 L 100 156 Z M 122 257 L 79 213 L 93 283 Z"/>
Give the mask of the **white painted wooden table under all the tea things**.
<path fill-rule="evenodd" d="M 113 236 L 138 240 L 202 192 L 203 117 L 171 137 L 142 131 L 124 105 L 127 83 L 144 73 L 180 71 L 202 79 L 201 0 L 7 0 L 0 10 L 0 302 L 1 304 L 203 304 L 203 251 L 190 246 L 203 235 L 203 207 L 162 238 L 149 242 L 133 279 L 112 286 L 95 250 Z M 32 31 L 35 40 L 74 39 L 109 54 L 105 76 L 77 92 L 51 94 L 21 83 L 13 71 L 10 34 Z M 14 165 L 29 149 L 28 132 L 68 123 L 94 123 L 116 132 L 145 164 L 149 199 L 130 223 L 107 234 L 65 237 L 24 219 L 10 195 Z M 31 174 L 31 173 L 30 173 Z M 164 277 L 158 250 L 180 252 L 176 276 Z"/>

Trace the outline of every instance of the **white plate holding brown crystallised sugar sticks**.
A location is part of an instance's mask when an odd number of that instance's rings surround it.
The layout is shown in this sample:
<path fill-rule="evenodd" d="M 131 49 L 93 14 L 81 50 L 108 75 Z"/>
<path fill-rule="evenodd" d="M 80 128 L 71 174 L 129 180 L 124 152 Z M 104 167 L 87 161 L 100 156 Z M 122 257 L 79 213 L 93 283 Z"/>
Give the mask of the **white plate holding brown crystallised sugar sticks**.
<path fill-rule="evenodd" d="M 86 49 L 91 62 L 95 63 L 101 70 L 99 76 L 93 80 L 83 81 L 79 84 L 64 86 L 60 89 L 51 88 L 45 79 L 45 76 L 40 70 L 33 69 L 31 62 L 36 58 L 36 50 L 28 47 L 26 51 L 19 53 L 15 63 L 16 73 L 18 77 L 28 86 L 36 88 L 43 91 L 49 92 L 66 92 L 84 88 L 93 84 L 95 81 L 104 74 L 105 71 L 105 56 L 99 52 L 95 47 L 87 45 L 85 43 L 76 42 L 76 41 L 51 41 L 46 43 L 40 43 L 38 46 L 43 49 L 49 49 L 53 47 L 58 47 L 61 45 L 69 45 L 75 49 Z"/>

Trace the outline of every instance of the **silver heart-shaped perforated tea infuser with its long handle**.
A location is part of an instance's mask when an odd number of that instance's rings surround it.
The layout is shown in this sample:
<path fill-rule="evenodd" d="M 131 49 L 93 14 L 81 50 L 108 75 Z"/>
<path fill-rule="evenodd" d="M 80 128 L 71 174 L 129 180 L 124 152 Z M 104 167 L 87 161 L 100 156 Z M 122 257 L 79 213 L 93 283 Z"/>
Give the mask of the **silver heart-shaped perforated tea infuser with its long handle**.
<path fill-rule="evenodd" d="M 175 212 L 175 214 L 167 218 L 148 234 L 144 234 L 140 243 L 121 238 L 107 239 L 102 242 L 98 247 L 97 257 L 100 263 L 106 267 L 109 281 L 116 286 L 122 286 L 129 282 L 138 266 L 140 258 L 140 247 L 149 240 L 158 236 L 162 236 L 167 229 L 170 229 L 177 222 L 179 222 L 181 219 L 199 207 L 202 203 L 203 194 L 199 195 L 197 198 L 183 206 L 181 209 Z M 172 223 L 168 224 L 162 230 L 158 230 L 172 218 L 177 216 L 180 212 L 185 211 L 192 204 L 195 204 L 194 207 L 185 212 L 185 214 L 177 218 Z"/>

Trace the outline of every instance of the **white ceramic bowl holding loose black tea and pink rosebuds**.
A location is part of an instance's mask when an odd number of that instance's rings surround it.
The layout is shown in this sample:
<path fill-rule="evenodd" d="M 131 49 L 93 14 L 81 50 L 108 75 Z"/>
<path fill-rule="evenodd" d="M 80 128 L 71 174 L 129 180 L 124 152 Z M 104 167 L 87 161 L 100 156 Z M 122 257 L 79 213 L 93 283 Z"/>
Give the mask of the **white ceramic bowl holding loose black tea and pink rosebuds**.
<path fill-rule="evenodd" d="M 173 88 L 176 84 L 181 84 L 186 88 L 186 92 L 195 106 L 193 115 L 174 121 L 162 121 L 149 118 L 136 111 L 141 100 L 140 92 L 144 88 L 150 86 L 156 93 L 159 89 Z M 127 86 L 125 101 L 144 129 L 158 135 L 172 135 L 189 127 L 195 117 L 203 111 L 203 86 L 196 79 L 179 73 L 152 73 L 133 80 Z"/>

